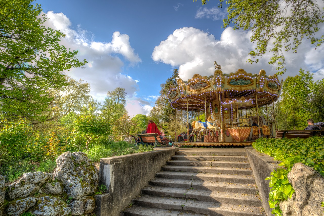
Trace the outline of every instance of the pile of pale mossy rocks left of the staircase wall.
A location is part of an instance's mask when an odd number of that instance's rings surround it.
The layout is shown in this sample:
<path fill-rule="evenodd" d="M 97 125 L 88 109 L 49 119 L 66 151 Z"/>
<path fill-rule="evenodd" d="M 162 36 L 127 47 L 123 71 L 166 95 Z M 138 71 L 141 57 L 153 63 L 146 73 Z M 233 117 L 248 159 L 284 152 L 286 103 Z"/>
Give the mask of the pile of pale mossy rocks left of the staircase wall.
<path fill-rule="evenodd" d="M 24 173 L 9 186 L 0 175 L 0 215 L 82 215 L 95 210 L 98 170 L 83 152 L 65 152 L 55 172 Z"/>

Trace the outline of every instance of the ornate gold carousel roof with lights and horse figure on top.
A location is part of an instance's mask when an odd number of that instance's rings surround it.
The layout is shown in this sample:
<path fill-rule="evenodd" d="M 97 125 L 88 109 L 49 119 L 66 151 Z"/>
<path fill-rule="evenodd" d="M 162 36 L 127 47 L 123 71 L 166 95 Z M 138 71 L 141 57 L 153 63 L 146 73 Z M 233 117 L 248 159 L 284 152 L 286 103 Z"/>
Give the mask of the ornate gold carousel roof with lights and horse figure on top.
<path fill-rule="evenodd" d="M 178 85 L 171 86 L 168 97 L 171 106 L 177 109 L 204 110 L 205 100 L 221 101 L 222 107 L 252 108 L 272 103 L 279 98 L 282 81 L 277 74 L 267 76 L 265 70 L 259 74 L 238 69 L 233 73 L 223 73 L 216 64 L 213 76 L 193 75 L 188 81 L 178 79 Z M 206 98 L 206 99 L 205 99 Z M 188 102 L 187 102 L 188 101 Z"/>

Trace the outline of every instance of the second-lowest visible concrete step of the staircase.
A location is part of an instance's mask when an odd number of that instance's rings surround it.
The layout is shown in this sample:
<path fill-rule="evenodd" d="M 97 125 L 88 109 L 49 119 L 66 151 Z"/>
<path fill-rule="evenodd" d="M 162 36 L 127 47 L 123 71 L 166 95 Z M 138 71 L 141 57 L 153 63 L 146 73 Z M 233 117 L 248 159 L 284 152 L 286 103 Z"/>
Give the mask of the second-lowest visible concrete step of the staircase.
<path fill-rule="evenodd" d="M 134 198 L 133 203 L 136 206 L 141 206 L 142 208 L 157 208 L 179 212 L 185 211 L 192 214 L 203 214 L 208 216 L 255 216 L 262 214 L 265 215 L 261 207 L 221 204 L 218 202 L 183 200 L 166 197 L 154 197 L 148 195 L 141 195 L 139 197 Z M 132 207 L 127 208 L 125 211 L 131 212 Z M 152 214 L 152 216 L 153 215 L 154 214 Z"/>

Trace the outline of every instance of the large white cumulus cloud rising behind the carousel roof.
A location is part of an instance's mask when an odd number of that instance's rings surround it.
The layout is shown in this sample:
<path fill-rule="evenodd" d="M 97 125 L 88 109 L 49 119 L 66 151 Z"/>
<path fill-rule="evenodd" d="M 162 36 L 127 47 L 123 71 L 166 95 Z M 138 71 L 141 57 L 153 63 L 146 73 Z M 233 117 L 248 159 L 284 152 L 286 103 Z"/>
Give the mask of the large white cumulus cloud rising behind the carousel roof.
<path fill-rule="evenodd" d="M 268 64 L 272 53 L 264 55 L 257 64 L 246 62 L 250 58 L 249 51 L 255 49 L 255 44 L 250 42 L 250 36 L 249 31 L 234 31 L 232 27 L 227 27 L 221 38 L 216 39 L 214 35 L 200 29 L 184 27 L 174 30 L 172 35 L 161 41 L 154 48 L 152 59 L 179 67 L 179 76 L 183 80 L 188 80 L 195 73 L 212 75 L 215 70 L 214 61 L 222 66 L 223 73 L 242 68 L 252 74 L 264 69 L 267 75 L 273 75 L 276 65 Z M 319 79 L 324 71 L 321 58 L 324 54 L 323 47 L 315 50 L 313 46 L 303 43 L 298 53 L 285 52 L 287 72 L 279 79 L 295 76 L 299 68 L 314 72 L 314 78 Z"/>

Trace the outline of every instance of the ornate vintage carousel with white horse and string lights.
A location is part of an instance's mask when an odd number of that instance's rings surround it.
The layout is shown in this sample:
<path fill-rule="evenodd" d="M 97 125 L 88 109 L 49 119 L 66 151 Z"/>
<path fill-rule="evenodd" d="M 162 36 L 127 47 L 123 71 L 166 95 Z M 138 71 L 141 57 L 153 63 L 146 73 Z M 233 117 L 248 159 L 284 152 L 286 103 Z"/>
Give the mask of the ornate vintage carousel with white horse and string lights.
<path fill-rule="evenodd" d="M 188 81 L 178 79 L 178 84 L 168 92 L 172 108 L 187 112 L 187 128 L 193 128 L 191 134 L 187 130 L 187 137 L 196 135 L 195 142 L 187 139 L 176 145 L 250 146 L 259 137 L 274 137 L 276 121 L 275 116 L 269 120 L 268 107 L 274 111 L 273 103 L 279 98 L 283 80 L 279 81 L 276 74 L 267 76 L 265 70 L 252 74 L 239 69 L 227 74 L 216 61 L 214 64 L 214 75 L 195 74 Z M 258 114 L 261 106 L 266 107 L 266 117 Z M 251 108 L 256 108 L 256 116 L 247 115 Z M 190 112 L 191 116 L 195 112 L 198 119 L 190 122 Z M 199 120 L 203 113 L 204 122 Z M 176 131 L 177 128 L 178 140 Z"/>

